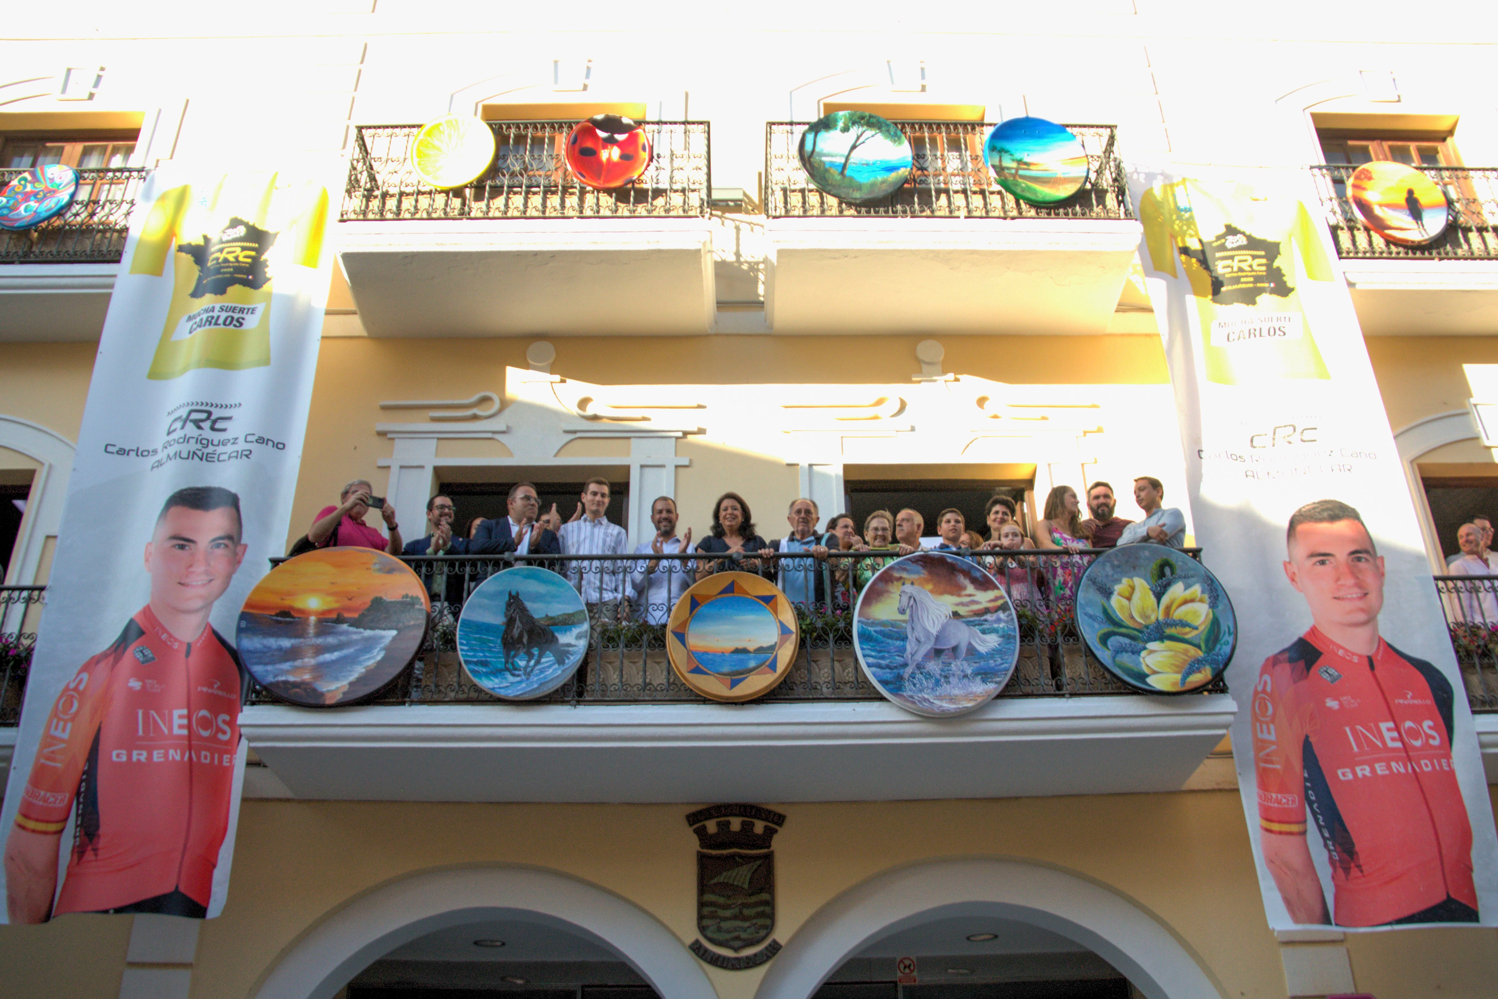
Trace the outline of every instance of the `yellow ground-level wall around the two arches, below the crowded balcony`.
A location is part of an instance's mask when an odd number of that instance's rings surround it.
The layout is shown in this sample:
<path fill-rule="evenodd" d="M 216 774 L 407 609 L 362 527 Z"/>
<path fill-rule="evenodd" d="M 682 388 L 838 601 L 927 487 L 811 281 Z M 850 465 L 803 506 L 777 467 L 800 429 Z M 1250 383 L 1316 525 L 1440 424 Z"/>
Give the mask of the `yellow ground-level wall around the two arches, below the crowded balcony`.
<path fill-rule="evenodd" d="M 831 899 L 894 867 L 1017 858 L 1091 879 L 1152 914 L 1224 996 L 1285 995 L 1236 791 L 774 807 L 788 816 L 774 842 L 774 933 L 782 942 Z M 641 906 L 685 947 L 697 936 L 697 840 L 683 821 L 688 810 L 246 801 L 234 887 L 223 917 L 202 929 L 192 996 L 253 995 L 288 947 L 354 896 L 440 867 L 563 872 Z M 0 975 L 0 998 L 112 996 L 124 924 L 63 917 L 0 929 L 0 966 L 10 969 Z M 1494 995 L 1498 930 L 1350 935 L 1347 947 L 1363 992 L 1395 999 Z M 764 971 L 707 974 L 724 999 L 750 999 Z"/>

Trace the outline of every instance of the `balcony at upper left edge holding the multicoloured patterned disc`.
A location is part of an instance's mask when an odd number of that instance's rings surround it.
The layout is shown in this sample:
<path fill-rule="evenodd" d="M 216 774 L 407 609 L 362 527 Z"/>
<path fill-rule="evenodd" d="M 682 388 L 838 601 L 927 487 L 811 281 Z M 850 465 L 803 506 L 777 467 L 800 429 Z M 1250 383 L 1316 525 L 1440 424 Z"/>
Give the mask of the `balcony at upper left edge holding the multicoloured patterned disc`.
<path fill-rule="evenodd" d="M 0 187 L 22 172 L 0 169 Z M 79 169 L 66 213 L 0 231 L 0 340 L 99 337 L 144 180 L 144 168 Z"/>

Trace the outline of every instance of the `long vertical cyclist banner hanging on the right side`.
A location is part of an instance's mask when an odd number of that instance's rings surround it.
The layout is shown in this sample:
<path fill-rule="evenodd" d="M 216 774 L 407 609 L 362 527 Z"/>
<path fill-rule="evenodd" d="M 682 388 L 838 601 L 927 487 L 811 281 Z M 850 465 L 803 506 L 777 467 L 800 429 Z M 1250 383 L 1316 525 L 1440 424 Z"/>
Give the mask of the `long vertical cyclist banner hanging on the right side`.
<path fill-rule="evenodd" d="M 1351 297 L 1294 196 L 1135 177 L 1269 924 L 1498 926 L 1477 735 Z"/>

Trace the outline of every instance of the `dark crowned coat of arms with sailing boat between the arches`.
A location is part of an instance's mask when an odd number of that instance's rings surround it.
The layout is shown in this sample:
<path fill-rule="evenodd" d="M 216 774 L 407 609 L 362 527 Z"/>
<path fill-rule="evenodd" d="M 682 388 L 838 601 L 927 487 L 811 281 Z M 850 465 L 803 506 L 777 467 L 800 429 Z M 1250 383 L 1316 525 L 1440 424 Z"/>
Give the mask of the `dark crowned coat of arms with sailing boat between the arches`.
<path fill-rule="evenodd" d="M 688 815 L 686 824 L 697 833 L 698 845 L 697 930 L 701 939 L 692 941 L 692 953 L 728 971 L 765 963 L 780 951 L 779 941 L 745 951 L 762 944 L 774 930 L 774 849 L 770 840 L 785 825 L 785 816 L 756 804 L 715 804 Z"/>

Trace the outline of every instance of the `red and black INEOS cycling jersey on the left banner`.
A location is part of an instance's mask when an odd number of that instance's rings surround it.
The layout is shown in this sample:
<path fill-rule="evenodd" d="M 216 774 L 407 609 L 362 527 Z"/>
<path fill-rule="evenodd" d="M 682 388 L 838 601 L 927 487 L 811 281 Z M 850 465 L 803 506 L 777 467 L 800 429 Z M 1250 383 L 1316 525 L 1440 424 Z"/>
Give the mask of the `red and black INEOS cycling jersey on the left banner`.
<path fill-rule="evenodd" d="M 228 833 L 247 674 L 211 626 L 181 641 L 141 608 L 57 695 L 18 828 L 75 815 L 52 915 L 181 893 L 207 909 Z"/>

